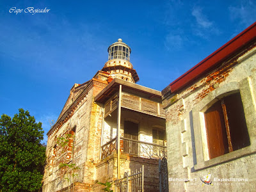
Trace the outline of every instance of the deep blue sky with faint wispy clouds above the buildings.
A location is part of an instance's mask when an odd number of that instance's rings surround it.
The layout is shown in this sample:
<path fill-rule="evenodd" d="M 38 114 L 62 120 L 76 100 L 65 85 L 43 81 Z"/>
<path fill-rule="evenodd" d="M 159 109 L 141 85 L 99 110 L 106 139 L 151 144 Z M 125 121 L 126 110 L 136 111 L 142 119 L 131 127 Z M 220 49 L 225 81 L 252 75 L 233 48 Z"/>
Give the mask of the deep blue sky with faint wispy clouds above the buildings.
<path fill-rule="evenodd" d="M 24 13 L 31 6 L 50 11 Z M 256 21 L 252 0 L 3 0 L 0 7 L 0 114 L 29 110 L 45 134 L 70 88 L 104 66 L 118 38 L 132 49 L 138 84 L 161 91 Z"/>

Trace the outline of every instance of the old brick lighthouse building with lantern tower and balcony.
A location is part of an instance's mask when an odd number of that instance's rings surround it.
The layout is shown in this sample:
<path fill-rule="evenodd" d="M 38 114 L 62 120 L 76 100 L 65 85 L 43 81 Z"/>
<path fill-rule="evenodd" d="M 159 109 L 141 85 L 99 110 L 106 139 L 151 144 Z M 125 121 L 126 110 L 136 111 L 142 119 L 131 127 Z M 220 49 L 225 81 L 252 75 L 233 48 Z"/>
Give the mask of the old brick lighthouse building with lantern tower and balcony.
<path fill-rule="evenodd" d="M 159 190 L 158 159 L 166 154 L 161 92 L 136 84 L 131 48 L 118 39 L 102 70 L 74 84 L 47 133 L 43 191 L 100 191 L 145 166 L 145 191 Z"/>

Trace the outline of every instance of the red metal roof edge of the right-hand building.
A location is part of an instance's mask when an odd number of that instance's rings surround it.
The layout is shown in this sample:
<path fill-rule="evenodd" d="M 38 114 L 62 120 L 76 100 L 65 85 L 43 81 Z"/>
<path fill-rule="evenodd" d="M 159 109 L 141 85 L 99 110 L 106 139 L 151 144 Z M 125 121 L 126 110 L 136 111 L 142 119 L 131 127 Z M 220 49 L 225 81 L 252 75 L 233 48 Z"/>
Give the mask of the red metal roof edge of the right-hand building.
<path fill-rule="evenodd" d="M 235 54 L 239 51 L 244 45 L 255 40 L 256 37 L 256 22 L 252 24 L 252 26 L 245 29 L 243 32 L 239 33 L 239 35 L 235 36 L 227 42 L 227 44 L 220 47 L 218 50 L 212 52 L 207 58 L 200 61 L 195 67 L 188 70 L 188 72 L 184 73 L 178 79 L 173 81 L 169 86 L 171 92 L 177 92 L 180 89 L 188 86 L 190 83 L 195 81 L 198 77 L 201 77 L 205 73 L 209 72 L 213 67 L 216 67 L 220 64 L 221 61 L 224 61 L 232 54 Z"/>

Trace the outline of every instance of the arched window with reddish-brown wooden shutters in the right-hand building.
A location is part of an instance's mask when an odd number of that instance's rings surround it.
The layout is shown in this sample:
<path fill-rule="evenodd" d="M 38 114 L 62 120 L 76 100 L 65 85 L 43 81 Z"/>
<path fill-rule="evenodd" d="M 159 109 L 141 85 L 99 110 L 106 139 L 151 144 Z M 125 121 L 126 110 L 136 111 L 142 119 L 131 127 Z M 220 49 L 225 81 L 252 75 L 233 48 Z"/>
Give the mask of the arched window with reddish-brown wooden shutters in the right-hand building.
<path fill-rule="evenodd" d="M 218 100 L 204 115 L 210 159 L 250 145 L 240 93 Z"/>

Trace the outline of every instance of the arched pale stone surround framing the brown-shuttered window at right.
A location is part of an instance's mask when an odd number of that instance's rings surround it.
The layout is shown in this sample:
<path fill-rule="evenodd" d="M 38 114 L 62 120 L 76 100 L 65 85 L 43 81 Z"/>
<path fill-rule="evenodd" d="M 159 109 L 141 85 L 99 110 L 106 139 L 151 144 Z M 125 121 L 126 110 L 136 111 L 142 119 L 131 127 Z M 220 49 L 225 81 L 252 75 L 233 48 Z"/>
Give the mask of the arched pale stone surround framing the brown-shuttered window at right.
<path fill-rule="evenodd" d="M 250 77 L 246 77 L 239 82 L 232 81 L 230 83 L 223 84 L 205 96 L 204 99 L 195 105 L 191 113 L 189 113 L 188 119 L 191 129 L 193 129 L 195 135 L 195 145 L 193 145 L 194 147 L 192 146 L 195 149 L 193 156 L 195 156 L 196 159 L 194 162 L 194 170 L 202 170 L 217 164 L 226 163 L 228 161 L 233 161 L 234 159 L 256 153 L 256 136 L 253 133 L 256 131 L 256 121 L 253 121 L 253 119 L 256 119 L 256 113 L 252 113 L 253 110 L 255 111 L 255 107 L 252 104 L 255 101 L 250 84 Z M 244 116 L 246 119 L 251 144 L 248 147 L 240 148 L 232 153 L 209 159 L 204 112 L 217 100 L 236 92 L 240 92 L 241 94 Z"/>

